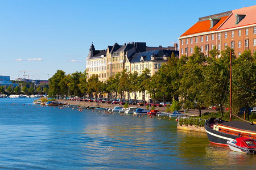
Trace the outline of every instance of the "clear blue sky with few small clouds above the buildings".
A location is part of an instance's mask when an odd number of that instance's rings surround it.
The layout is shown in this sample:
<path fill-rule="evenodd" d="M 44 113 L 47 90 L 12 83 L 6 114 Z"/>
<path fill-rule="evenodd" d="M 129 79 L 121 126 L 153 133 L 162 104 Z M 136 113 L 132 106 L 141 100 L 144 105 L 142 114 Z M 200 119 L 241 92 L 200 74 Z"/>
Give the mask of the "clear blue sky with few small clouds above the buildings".
<path fill-rule="evenodd" d="M 48 79 L 85 70 L 90 45 L 173 46 L 200 17 L 254 1 L 0 0 L 0 75 Z M 21 72 L 20 72 L 21 71 Z M 27 77 L 26 77 L 27 78 Z"/>

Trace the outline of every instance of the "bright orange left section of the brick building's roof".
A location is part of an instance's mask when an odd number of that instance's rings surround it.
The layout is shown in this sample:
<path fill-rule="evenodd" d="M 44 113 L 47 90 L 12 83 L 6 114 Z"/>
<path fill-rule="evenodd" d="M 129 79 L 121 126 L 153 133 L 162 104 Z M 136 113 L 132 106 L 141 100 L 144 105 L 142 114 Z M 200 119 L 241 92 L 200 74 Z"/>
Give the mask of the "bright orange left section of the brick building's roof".
<path fill-rule="evenodd" d="M 183 33 L 182 36 L 193 35 L 196 33 L 201 32 L 209 32 L 209 31 L 216 31 L 216 29 L 228 18 L 228 16 L 223 16 L 220 18 L 220 21 L 214 25 L 214 27 L 210 28 L 210 20 L 204 20 L 201 22 L 197 22 L 191 28 L 189 28 L 186 32 Z"/>

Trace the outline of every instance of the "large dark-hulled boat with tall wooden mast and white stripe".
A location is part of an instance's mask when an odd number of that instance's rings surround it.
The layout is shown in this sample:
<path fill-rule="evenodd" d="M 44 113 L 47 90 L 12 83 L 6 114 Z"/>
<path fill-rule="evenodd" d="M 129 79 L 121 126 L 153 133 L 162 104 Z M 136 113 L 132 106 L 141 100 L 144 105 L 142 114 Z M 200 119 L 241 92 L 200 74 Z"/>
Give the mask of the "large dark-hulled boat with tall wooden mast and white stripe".
<path fill-rule="evenodd" d="M 232 121 L 232 53 L 230 51 L 230 101 L 229 121 L 211 117 L 205 122 L 205 131 L 210 143 L 228 146 L 228 141 L 239 137 L 254 139 L 256 141 L 256 125 L 242 121 Z"/>

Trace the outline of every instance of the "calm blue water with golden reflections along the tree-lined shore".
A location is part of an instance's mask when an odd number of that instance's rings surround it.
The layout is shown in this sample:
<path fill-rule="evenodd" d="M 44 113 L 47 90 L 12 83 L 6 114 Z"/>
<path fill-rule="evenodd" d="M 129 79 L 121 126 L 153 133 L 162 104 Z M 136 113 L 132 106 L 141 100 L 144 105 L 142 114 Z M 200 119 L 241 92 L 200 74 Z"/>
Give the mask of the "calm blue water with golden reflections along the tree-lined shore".
<path fill-rule="evenodd" d="M 177 131 L 174 120 L 36 108 L 33 100 L 0 98 L 0 169 L 256 168 L 255 155 Z"/>

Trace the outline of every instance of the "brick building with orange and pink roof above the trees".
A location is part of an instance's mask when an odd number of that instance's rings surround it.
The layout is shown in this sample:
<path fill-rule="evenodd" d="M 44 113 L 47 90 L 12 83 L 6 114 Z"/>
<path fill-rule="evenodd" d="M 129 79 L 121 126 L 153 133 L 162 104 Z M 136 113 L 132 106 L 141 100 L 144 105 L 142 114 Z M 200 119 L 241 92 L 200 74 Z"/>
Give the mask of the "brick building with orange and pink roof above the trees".
<path fill-rule="evenodd" d="M 205 56 L 209 56 L 213 46 L 219 52 L 229 46 L 236 56 L 245 49 L 253 53 L 256 50 L 255 16 L 256 6 L 251 6 L 199 18 L 199 22 L 179 37 L 179 56 L 191 56 L 196 45 Z"/>

